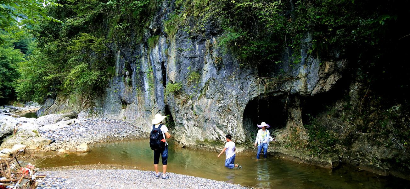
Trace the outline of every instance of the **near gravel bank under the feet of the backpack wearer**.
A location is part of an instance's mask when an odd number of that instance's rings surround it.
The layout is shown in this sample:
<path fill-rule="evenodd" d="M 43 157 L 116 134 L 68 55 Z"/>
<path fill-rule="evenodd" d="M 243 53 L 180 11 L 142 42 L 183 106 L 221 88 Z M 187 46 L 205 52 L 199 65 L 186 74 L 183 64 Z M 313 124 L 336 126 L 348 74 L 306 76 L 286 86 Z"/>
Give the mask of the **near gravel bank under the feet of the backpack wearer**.
<path fill-rule="evenodd" d="M 228 182 L 210 180 L 194 176 L 169 173 L 168 180 L 155 179 L 154 171 L 140 171 L 130 169 L 119 170 L 64 170 L 43 171 L 44 178 L 38 189 L 80 189 L 80 188 L 240 188 Z"/>

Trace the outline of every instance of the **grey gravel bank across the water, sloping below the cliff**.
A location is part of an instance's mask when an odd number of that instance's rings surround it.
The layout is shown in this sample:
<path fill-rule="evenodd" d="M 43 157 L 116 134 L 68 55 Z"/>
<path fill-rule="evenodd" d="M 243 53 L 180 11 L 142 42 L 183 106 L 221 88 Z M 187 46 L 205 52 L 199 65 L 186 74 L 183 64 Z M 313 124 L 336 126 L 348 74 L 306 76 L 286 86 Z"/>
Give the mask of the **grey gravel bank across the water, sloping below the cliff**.
<path fill-rule="evenodd" d="M 78 118 L 78 123 L 60 129 L 41 131 L 41 135 L 52 140 L 44 149 L 73 149 L 81 143 L 92 144 L 118 140 L 148 138 L 148 133 L 122 120 L 108 118 Z"/>

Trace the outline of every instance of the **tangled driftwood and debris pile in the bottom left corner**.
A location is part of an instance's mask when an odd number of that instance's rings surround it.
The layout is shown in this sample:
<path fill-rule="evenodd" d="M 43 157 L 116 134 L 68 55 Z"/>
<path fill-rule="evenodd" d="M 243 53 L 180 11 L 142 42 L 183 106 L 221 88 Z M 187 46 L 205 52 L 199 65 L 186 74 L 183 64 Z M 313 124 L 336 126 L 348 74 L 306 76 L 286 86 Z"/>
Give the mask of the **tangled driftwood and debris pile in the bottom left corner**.
<path fill-rule="evenodd" d="M 17 160 L 25 149 L 16 151 L 11 158 L 0 159 L 0 189 L 35 189 L 36 180 L 45 176 L 37 175 L 38 168 L 31 163 Z"/>

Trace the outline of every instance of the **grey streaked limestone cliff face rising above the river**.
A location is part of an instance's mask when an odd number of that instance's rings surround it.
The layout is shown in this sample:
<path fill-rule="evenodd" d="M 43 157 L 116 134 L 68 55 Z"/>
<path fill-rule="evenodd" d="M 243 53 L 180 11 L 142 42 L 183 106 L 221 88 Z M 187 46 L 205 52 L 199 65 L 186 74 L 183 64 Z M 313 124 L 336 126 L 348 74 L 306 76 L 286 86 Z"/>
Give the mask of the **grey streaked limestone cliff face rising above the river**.
<path fill-rule="evenodd" d="M 179 29 L 175 38 L 167 38 L 162 24 L 168 15 L 165 7 L 157 11 L 146 29 L 143 43 L 109 45 L 116 74 L 105 93 L 91 100 L 93 105 L 73 105 L 69 99 L 57 96 L 48 99 L 41 111 L 48 114 L 69 109 L 78 111 L 79 116 L 125 119 L 146 131 L 156 113 L 169 112 L 175 122 L 175 140 L 182 144 L 223 140 L 228 133 L 241 143 L 252 140 L 256 122 L 263 121 L 259 115 L 244 118 L 248 103 L 278 97 L 278 104 L 272 102 L 271 106 L 288 106 L 289 113 L 272 116 L 285 120 L 287 130 L 299 128 L 301 138 L 306 139 L 298 96 L 330 90 L 342 77 L 346 62 L 322 64 L 323 60 L 308 55 L 311 37 L 307 34 L 301 41 L 301 61 L 297 64 L 290 63 L 284 49 L 281 64 L 263 69 L 240 67 L 232 53 L 219 47 L 221 33 L 212 27 L 207 27 L 204 36 L 191 37 Z M 146 40 L 154 35 L 159 40 L 154 47 L 148 47 Z M 166 83 L 181 83 L 182 89 L 165 96 Z M 286 103 L 279 103 L 283 101 Z M 248 111 L 259 111 L 259 107 Z"/>

